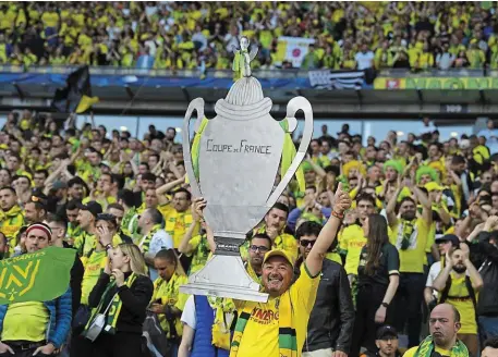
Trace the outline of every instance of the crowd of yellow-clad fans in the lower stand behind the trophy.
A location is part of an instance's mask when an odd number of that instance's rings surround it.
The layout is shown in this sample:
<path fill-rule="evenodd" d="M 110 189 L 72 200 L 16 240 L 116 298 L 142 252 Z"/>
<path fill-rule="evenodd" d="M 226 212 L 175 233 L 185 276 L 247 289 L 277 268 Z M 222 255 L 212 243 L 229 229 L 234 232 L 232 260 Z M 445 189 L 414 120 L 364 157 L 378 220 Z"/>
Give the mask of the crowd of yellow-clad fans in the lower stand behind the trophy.
<path fill-rule="evenodd" d="M 166 319 L 177 324 L 161 320 L 161 327 L 186 356 L 195 344 L 189 329 L 196 328 L 193 303 L 178 286 L 186 282 L 185 271 L 204 267 L 214 242 L 203 204 L 191 199 L 175 131 L 151 125 L 143 138 L 134 138 L 102 125 L 76 128 L 74 120 L 58 123 L 50 113 L 29 111 L 8 115 L 0 132 L 1 255 L 23 254 L 26 224 L 47 222 L 61 246 L 78 251 L 85 305 L 105 267 L 106 244 L 133 242 L 155 281 L 149 308 L 172 313 Z M 459 338 L 476 356 L 479 341 L 498 335 L 496 152 L 498 131 L 490 120 L 478 135 L 441 141 L 425 118 L 406 140 L 390 132 L 381 141 L 368 137 L 366 146 L 348 124 L 333 136 L 324 125 L 301 167 L 305 192 L 292 182 L 242 246 L 247 272 L 259 281 L 263 256 L 275 248 L 292 266 L 306 258 L 324 224 L 338 214 L 333 192 L 342 183 L 353 206 L 320 282 L 339 285 L 320 287 L 305 350 L 328 344 L 349 356 L 359 356 L 362 347 L 369 355 L 384 341 L 396 347 L 393 355 L 381 356 L 394 357 L 399 335 L 392 325 L 408 335 L 408 347 L 417 346 L 428 311 L 447 303 L 459 313 Z M 183 254 L 180 261 L 165 247 Z M 262 329 L 270 325 L 262 323 Z M 85 350 L 80 332 L 73 332 L 72 343 Z"/>

